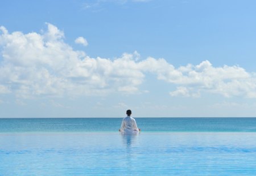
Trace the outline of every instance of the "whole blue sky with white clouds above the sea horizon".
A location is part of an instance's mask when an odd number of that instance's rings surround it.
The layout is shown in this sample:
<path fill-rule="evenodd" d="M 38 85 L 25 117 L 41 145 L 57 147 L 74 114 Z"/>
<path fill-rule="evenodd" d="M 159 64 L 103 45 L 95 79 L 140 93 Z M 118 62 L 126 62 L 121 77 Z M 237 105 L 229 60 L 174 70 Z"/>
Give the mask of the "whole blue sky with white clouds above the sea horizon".
<path fill-rule="evenodd" d="M 0 117 L 255 117 L 255 1 L 3 1 Z"/>

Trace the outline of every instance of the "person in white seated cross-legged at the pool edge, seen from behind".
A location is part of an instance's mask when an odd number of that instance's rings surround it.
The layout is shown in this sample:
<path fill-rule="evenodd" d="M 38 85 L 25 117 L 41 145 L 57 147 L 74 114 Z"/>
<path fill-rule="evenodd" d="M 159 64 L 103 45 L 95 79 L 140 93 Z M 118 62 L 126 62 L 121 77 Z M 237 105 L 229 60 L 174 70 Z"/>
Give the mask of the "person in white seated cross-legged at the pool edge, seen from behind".
<path fill-rule="evenodd" d="M 123 118 L 121 132 L 139 132 L 141 129 L 137 127 L 136 121 L 131 117 L 131 110 L 126 111 L 127 117 Z"/>

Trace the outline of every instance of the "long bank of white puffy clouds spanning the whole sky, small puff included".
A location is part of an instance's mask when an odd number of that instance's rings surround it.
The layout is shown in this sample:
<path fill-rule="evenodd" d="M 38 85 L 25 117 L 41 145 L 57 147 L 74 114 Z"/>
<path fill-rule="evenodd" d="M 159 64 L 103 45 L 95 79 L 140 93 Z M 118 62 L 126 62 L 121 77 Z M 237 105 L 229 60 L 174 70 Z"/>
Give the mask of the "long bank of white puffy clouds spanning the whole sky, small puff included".
<path fill-rule="evenodd" d="M 57 27 L 47 26 L 43 33 L 27 34 L 0 27 L 0 93 L 15 93 L 18 98 L 134 93 L 151 73 L 177 86 L 171 96 L 208 92 L 256 98 L 255 74 L 239 66 L 213 67 L 203 61 L 175 68 L 165 59 L 139 60 L 137 51 L 117 59 L 90 58 L 66 44 Z"/>

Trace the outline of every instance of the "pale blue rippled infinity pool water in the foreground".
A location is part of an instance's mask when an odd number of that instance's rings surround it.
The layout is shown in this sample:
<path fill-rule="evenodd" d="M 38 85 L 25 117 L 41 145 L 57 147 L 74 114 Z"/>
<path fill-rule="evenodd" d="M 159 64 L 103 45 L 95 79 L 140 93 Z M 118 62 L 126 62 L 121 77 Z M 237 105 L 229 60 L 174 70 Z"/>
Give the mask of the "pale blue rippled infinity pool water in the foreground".
<path fill-rule="evenodd" d="M 254 132 L 2 132 L 0 175 L 256 175 Z"/>

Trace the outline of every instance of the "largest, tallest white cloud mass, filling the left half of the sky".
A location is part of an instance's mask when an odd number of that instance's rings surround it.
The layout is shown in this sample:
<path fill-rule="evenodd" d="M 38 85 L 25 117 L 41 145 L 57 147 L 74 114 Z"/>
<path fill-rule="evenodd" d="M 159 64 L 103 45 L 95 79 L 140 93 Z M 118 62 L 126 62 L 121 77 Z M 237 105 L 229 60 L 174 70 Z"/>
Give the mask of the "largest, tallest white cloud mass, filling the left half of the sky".
<path fill-rule="evenodd" d="M 138 91 L 144 77 L 134 61 L 138 53 L 125 53 L 114 61 L 90 58 L 66 44 L 57 27 L 47 26 L 43 34 L 0 28 L 0 93 L 33 97 Z"/>

